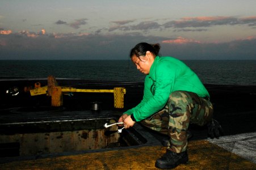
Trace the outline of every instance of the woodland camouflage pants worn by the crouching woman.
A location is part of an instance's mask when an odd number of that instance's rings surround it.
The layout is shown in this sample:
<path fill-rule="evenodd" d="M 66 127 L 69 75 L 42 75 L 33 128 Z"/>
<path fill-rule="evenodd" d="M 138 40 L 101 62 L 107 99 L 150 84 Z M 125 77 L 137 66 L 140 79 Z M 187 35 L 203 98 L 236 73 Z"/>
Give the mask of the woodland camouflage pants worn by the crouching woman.
<path fill-rule="evenodd" d="M 160 112 L 141 124 L 170 137 L 167 149 L 179 153 L 187 149 L 187 129 L 190 123 L 203 126 L 212 119 L 212 103 L 193 92 L 175 91 Z"/>

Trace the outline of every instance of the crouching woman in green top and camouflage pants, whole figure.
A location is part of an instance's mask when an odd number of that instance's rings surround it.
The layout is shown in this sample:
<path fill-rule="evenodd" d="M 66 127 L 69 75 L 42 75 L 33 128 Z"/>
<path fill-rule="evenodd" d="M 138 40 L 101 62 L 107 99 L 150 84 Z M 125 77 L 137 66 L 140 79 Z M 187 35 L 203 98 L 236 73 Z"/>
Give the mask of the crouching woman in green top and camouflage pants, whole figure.
<path fill-rule="evenodd" d="M 198 76 L 182 61 L 160 57 L 160 45 L 137 44 L 130 53 L 132 62 L 146 75 L 144 96 L 135 108 L 124 112 L 119 122 L 125 129 L 135 122 L 168 134 L 166 154 L 156 161 L 157 168 L 174 168 L 187 163 L 187 129 L 191 123 L 205 125 L 212 120 L 209 93 Z"/>

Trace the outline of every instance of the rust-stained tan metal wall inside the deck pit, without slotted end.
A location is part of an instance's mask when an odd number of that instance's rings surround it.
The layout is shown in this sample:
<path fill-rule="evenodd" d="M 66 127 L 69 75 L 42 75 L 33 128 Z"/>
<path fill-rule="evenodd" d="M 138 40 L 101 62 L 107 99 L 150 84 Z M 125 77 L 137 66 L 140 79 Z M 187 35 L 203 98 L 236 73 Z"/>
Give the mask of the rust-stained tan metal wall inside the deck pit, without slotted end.
<path fill-rule="evenodd" d="M 117 130 L 117 127 L 115 128 L 116 129 L 113 130 Z M 42 154 L 96 150 L 106 148 L 112 143 L 119 141 L 119 133 L 104 135 L 105 131 L 105 129 L 85 129 L 49 133 L 1 135 L 0 141 L 1 143 L 19 143 L 18 156 L 39 156 Z M 8 150 L 6 150 L 6 152 L 8 152 Z M 0 155 L 2 154 L 3 153 Z"/>

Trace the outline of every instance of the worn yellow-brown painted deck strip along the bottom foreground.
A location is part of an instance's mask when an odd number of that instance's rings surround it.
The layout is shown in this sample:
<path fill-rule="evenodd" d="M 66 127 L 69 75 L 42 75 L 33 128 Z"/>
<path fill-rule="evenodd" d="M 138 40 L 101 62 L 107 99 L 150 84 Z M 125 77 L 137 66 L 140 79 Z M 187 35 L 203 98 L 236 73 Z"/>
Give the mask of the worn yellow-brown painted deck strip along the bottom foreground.
<path fill-rule="evenodd" d="M 0 169 L 157 169 L 166 147 L 143 146 L 88 154 L 54 156 L 0 164 Z M 208 141 L 188 143 L 189 162 L 175 169 L 256 169 L 256 164 Z"/>

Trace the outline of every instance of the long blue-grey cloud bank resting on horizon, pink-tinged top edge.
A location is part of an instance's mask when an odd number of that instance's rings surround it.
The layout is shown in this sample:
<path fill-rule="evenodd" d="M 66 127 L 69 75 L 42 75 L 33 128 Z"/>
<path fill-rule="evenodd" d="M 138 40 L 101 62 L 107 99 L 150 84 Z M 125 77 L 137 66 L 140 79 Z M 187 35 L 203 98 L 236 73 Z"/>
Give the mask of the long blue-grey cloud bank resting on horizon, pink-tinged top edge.
<path fill-rule="evenodd" d="M 129 50 L 139 42 L 159 42 L 162 56 L 179 59 L 256 59 L 255 35 L 230 42 L 204 43 L 187 37 L 166 39 L 138 32 L 91 35 L 20 31 L 0 35 L 0 40 L 0 59 L 129 59 Z"/>

